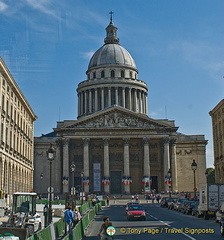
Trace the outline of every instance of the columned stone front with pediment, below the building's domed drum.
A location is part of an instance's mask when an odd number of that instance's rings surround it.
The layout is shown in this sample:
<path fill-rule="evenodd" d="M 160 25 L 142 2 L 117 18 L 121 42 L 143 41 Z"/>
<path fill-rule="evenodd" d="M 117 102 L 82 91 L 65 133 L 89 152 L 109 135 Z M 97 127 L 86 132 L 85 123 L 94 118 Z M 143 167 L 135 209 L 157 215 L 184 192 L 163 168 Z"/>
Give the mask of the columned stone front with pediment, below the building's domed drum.
<path fill-rule="evenodd" d="M 130 125 L 117 121 L 116 127 L 115 123 L 105 126 L 102 119 L 115 115 L 117 120 L 119 116 L 125 116 L 124 119 L 135 119 L 137 124 L 134 121 Z M 57 174 L 54 174 L 53 187 L 59 194 L 69 192 L 72 187 L 70 166 L 73 162 L 76 165 L 76 187 L 81 188 L 81 172 L 84 172 L 84 178 L 89 179 L 89 185 L 84 185 L 86 192 L 141 192 L 144 176 L 152 178 L 152 189 L 167 191 L 164 178 L 169 169 L 173 191 L 193 192 L 191 163 L 195 159 L 198 165 L 198 188 L 205 182 L 207 141 L 202 135 L 187 136 L 176 130 L 173 121 L 150 119 L 119 106 L 93 114 L 88 119 L 58 122 L 54 137 L 35 138 L 35 172 L 38 172 L 35 179 L 41 172 L 46 176 L 42 185 L 40 180 L 37 182 L 36 191 L 42 187 L 46 192 L 46 183 L 49 183 L 46 150 L 50 142 L 57 142 L 53 162 Z M 130 176 L 132 184 L 122 184 L 124 176 Z M 102 179 L 106 177 L 110 178 L 110 185 L 102 185 Z M 68 184 L 63 184 L 64 179 L 68 180 Z"/>

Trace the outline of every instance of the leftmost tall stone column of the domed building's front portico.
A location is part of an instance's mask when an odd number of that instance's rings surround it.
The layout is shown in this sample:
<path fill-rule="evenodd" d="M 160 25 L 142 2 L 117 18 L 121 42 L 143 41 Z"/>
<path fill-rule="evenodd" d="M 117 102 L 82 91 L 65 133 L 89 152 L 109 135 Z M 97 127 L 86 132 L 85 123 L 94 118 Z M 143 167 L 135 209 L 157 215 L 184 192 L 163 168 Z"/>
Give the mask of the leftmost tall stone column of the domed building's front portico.
<path fill-rule="evenodd" d="M 63 193 L 69 192 L 69 138 L 63 139 Z"/>

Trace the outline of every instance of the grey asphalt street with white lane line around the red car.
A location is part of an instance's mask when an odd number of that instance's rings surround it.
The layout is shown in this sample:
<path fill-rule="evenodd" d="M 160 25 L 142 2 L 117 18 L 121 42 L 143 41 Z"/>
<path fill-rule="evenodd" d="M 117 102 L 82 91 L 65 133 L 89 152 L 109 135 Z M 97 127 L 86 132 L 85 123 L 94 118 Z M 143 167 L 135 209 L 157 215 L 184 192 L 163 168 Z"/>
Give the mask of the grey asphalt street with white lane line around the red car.
<path fill-rule="evenodd" d="M 125 204 L 117 202 L 116 205 L 105 207 L 90 224 L 84 240 L 100 239 L 97 236 L 103 217 L 109 216 L 116 229 L 114 240 L 118 239 L 223 239 L 219 231 L 219 223 L 214 219 L 185 215 L 159 204 L 143 204 L 147 211 L 146 221 L 127 221 Z"/>

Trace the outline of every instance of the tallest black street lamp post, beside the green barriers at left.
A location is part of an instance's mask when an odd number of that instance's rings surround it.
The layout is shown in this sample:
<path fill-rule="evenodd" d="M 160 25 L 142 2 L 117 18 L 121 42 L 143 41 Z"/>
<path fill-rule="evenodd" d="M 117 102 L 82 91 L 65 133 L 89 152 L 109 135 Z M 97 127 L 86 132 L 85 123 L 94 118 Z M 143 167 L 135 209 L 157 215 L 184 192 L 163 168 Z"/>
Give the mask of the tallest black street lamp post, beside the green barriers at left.
<path fill-rule="evenodd" d="M 54 192 L 54 189 L 52 187 L 52 161 L 54 160 L 54 154 L 55 150 L 50 144 L 50 147 L 47 150 L 47 159 L 50 161 L 50 186 L 48 188 L 48 194 L 49 194 L 49 214 L 48 214 L 48 224 L 52 223 L 52 195 Z"/>

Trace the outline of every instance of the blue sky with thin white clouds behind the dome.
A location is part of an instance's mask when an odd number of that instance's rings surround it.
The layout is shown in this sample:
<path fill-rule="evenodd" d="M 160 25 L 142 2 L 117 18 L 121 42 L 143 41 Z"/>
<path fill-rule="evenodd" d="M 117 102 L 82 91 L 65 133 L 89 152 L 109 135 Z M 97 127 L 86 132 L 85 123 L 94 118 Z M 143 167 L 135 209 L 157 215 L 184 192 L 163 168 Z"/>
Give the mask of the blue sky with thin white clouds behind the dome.
<path fill-rule="evenodd" d="M 0 56 L 38 120 L 35 136 L 76 119 L 79 82 L 103 45 L 109 11 L 149 88 L 149 116 L 208 140 L 224 98 L 223 0 L 0 0 Z"/>

